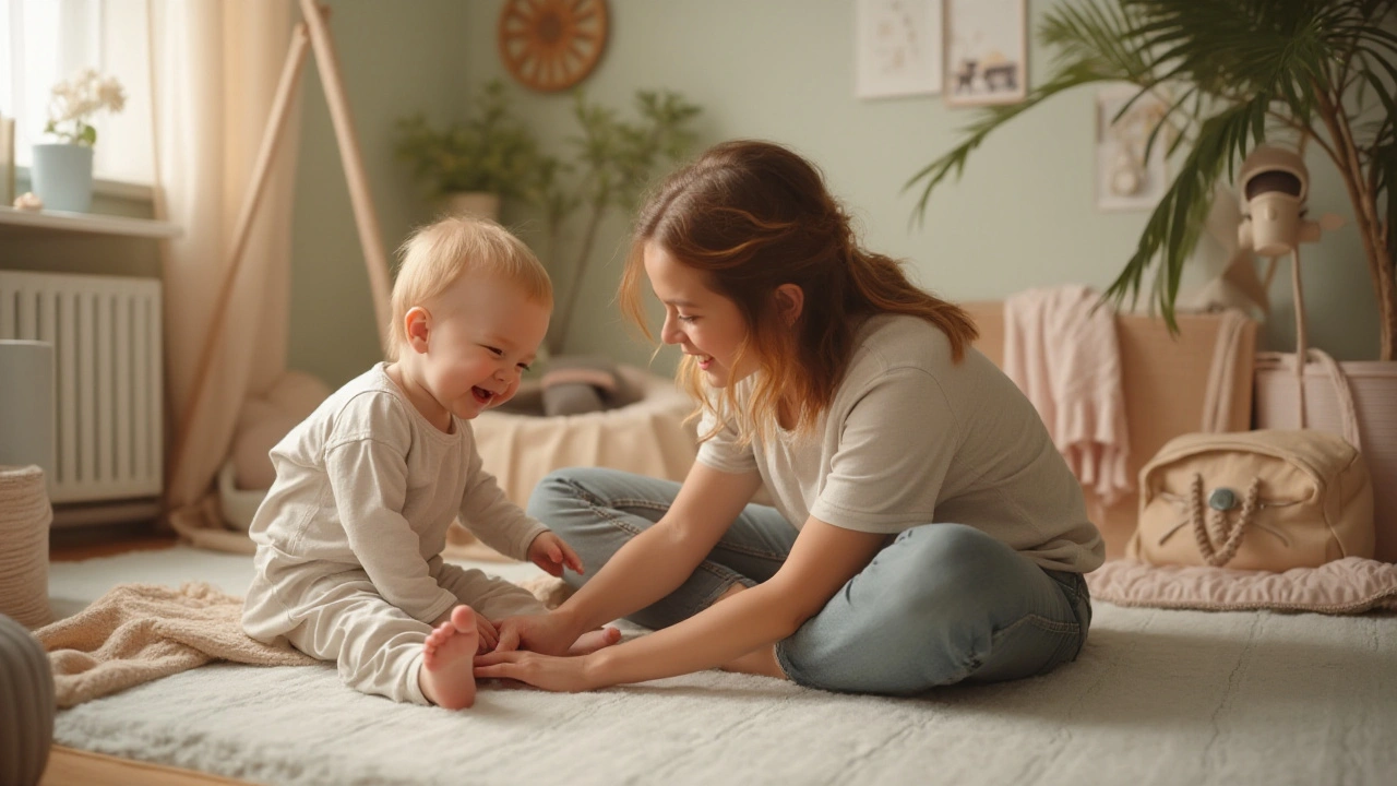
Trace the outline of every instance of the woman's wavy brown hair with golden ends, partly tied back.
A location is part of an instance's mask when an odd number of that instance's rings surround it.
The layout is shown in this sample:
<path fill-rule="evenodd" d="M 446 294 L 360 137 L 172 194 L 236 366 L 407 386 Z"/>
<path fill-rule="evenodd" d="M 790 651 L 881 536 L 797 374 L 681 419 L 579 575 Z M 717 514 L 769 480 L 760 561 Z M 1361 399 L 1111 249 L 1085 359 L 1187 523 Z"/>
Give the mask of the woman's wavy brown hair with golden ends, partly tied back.
<path fill-rule="evenodd" d="M 641 208 L 619 296 L 630 320 L 652 338 L 641 288 L 648 243 L 701 271 L 747 323 L 739 355 L 756 352 L 761 373 L 745 407 L 750 417 L 738 418 L 743 442 L 770 432 L 782 400 L 798 431 L 814 427 L 844 378 L 862 317 L 925 319 L 946 333 L 956 361 L 978 336 L 960 306 L 918 288 L 897 260 L 862 249 L 820 171 L 778 144 L 735 140 L 711 147 L 665 179 Z M 782 284 L 796 284 L 805 295 L 793 330 L 777 308 Z M 701 401 L 700 411 L 712 411 L 719 424 L 738 411 L 735 386 L 725 390 L 721 408 L 710 403 L 693 358 L 685 358 L 679 378 Z"/>

